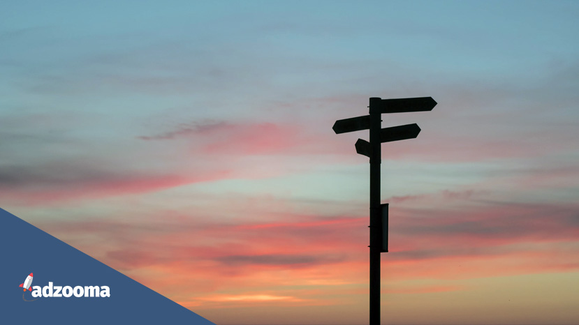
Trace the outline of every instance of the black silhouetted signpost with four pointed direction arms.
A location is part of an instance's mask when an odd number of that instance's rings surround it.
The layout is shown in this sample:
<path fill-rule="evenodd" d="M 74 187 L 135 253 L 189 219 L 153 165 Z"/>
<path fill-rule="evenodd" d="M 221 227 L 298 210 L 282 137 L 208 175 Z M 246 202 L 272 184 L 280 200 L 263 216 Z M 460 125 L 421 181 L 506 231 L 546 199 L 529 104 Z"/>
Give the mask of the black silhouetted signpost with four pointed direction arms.
<path fill-rule="evenodd" d="M 431 111 L 432 97 L 369 100 L 369 115 L 334 123 L 336 134 L 369 129 L 370 141 L 358 139 L 356 152 L 370 158 L 370 325 L 380 324 L 380 253 L 388 252 L 388 204 L 380 204 L 381 143 L 418 137 L 416 123 L 381 128 L 381 114 Z"/>

